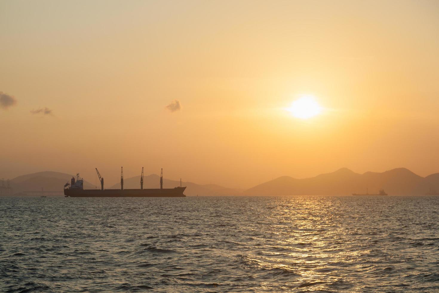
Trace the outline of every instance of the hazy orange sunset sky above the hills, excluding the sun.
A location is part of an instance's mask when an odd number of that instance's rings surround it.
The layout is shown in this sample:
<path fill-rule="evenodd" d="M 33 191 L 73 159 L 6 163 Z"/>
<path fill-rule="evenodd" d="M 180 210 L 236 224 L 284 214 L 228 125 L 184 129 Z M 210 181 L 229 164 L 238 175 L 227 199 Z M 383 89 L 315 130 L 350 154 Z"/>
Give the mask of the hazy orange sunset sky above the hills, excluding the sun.
<path fill-rule="evenodd" d="M 437 0 L 0 0 L 0 69 L 4 178 L 439 172 Z"/>

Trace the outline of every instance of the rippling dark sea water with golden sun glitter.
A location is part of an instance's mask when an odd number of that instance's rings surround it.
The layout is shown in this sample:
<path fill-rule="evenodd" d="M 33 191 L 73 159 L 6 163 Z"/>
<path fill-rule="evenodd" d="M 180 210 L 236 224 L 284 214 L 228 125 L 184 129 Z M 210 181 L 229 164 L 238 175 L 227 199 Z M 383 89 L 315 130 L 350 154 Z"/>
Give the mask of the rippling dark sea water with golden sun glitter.
<path fill-rule="evenodd" d="M 439 292 L 439 197 L 3 197 L 0 291 Z"/>

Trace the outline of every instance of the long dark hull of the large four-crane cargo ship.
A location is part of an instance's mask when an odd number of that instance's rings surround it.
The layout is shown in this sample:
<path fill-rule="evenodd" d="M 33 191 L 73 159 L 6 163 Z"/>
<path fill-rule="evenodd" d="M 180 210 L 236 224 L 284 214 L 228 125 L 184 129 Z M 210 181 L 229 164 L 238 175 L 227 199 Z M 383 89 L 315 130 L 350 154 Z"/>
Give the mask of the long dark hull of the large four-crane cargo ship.
<path fill-rule="evenodd" d="M 65 197 L 186 197 L 186 187 L 147 189 L 64 189 Z"/>

